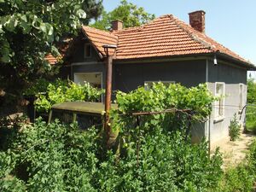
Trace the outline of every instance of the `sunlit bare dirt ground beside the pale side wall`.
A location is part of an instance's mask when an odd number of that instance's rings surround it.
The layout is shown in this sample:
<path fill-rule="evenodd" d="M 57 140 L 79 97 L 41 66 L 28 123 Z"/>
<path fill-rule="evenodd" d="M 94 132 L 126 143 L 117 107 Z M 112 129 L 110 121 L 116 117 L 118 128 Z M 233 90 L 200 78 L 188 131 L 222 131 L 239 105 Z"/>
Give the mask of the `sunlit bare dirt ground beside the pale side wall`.
<path fill-rule="evenodd" d="M 246 157 L 249 144 L 252 143 L 254 135 L 250 133 L 241 133 L 239 139 L 235 142 L 222 143 L 220 152 L 223 154 L 223 168 L 236 166 Z"/>

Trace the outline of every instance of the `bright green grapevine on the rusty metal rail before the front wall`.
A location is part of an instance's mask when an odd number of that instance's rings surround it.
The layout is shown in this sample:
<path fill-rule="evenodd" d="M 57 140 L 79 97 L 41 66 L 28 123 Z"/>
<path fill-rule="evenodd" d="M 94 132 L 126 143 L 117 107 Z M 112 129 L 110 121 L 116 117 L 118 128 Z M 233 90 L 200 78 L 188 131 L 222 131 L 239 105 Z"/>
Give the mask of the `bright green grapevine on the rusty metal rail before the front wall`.
<path fill-rule="evenodd" d="M 143 129 L 151 130 L 154 129 L 155 125 L 160 125 L 169 131 L 187 129 L 190 120 L 199 122 L 207 119 L 214 101 L 214 97 L 207 90 L 206 84 L 186 88 L 180 84 L 166 86 L 157 83 L 153 84 L 150 90 L 140 87 L 130 93 L 118 92 L 116 97 L 119 105 L 119 110 L 116 113 L 123 115 L 113 115 L 113 124 L 117 121 L 118 129 L 124 132 L 129 132 L 135 125 L 135 118 L 127 118 L 126 114 L 160 112 L 166 109 L 171 109 L 171 112 L 142 116 Z M 183 109 L 189 111 L 186 112 Z"/>

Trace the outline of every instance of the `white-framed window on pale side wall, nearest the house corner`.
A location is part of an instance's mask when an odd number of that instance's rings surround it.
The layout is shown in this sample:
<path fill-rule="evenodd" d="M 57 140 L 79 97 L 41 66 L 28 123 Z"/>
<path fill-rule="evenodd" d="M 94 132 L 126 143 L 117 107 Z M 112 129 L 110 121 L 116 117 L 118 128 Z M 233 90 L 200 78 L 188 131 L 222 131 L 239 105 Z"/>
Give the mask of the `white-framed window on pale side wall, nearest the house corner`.
<path fill-rule="evenodd" d="M 215 102 L 215 118 L 224 118 L 224 83 L 215 83 L 215 96 L 218 101 Z"/>

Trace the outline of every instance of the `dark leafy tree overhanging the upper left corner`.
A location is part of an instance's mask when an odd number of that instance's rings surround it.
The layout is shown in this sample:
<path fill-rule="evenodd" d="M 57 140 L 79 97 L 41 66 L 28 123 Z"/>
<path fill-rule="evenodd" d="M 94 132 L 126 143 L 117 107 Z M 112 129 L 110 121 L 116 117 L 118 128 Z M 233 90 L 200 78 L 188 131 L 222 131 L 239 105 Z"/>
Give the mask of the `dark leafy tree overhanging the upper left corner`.
<path fill-rule="evenodd" d="M 27 81 L 49 72 L 44 56 L 59 55 L 55 45 L 101 11 L 97 0 L 0 0 L 0 90 L 19 95 Z"/>

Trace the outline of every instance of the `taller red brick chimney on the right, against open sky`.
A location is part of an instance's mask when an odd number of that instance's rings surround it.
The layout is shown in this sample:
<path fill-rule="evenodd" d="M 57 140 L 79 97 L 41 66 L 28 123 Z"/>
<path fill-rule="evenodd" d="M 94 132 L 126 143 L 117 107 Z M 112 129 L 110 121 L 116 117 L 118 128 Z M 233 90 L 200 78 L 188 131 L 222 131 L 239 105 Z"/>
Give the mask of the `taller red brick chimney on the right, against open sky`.
<path fill-rule="evenodd" d="M 196 31 L 205 33 L 206 29 L 206 20 L 205 20 L 206 12 L 203 10 L 195 11 L 189 13 L 189 24 Z"/>

